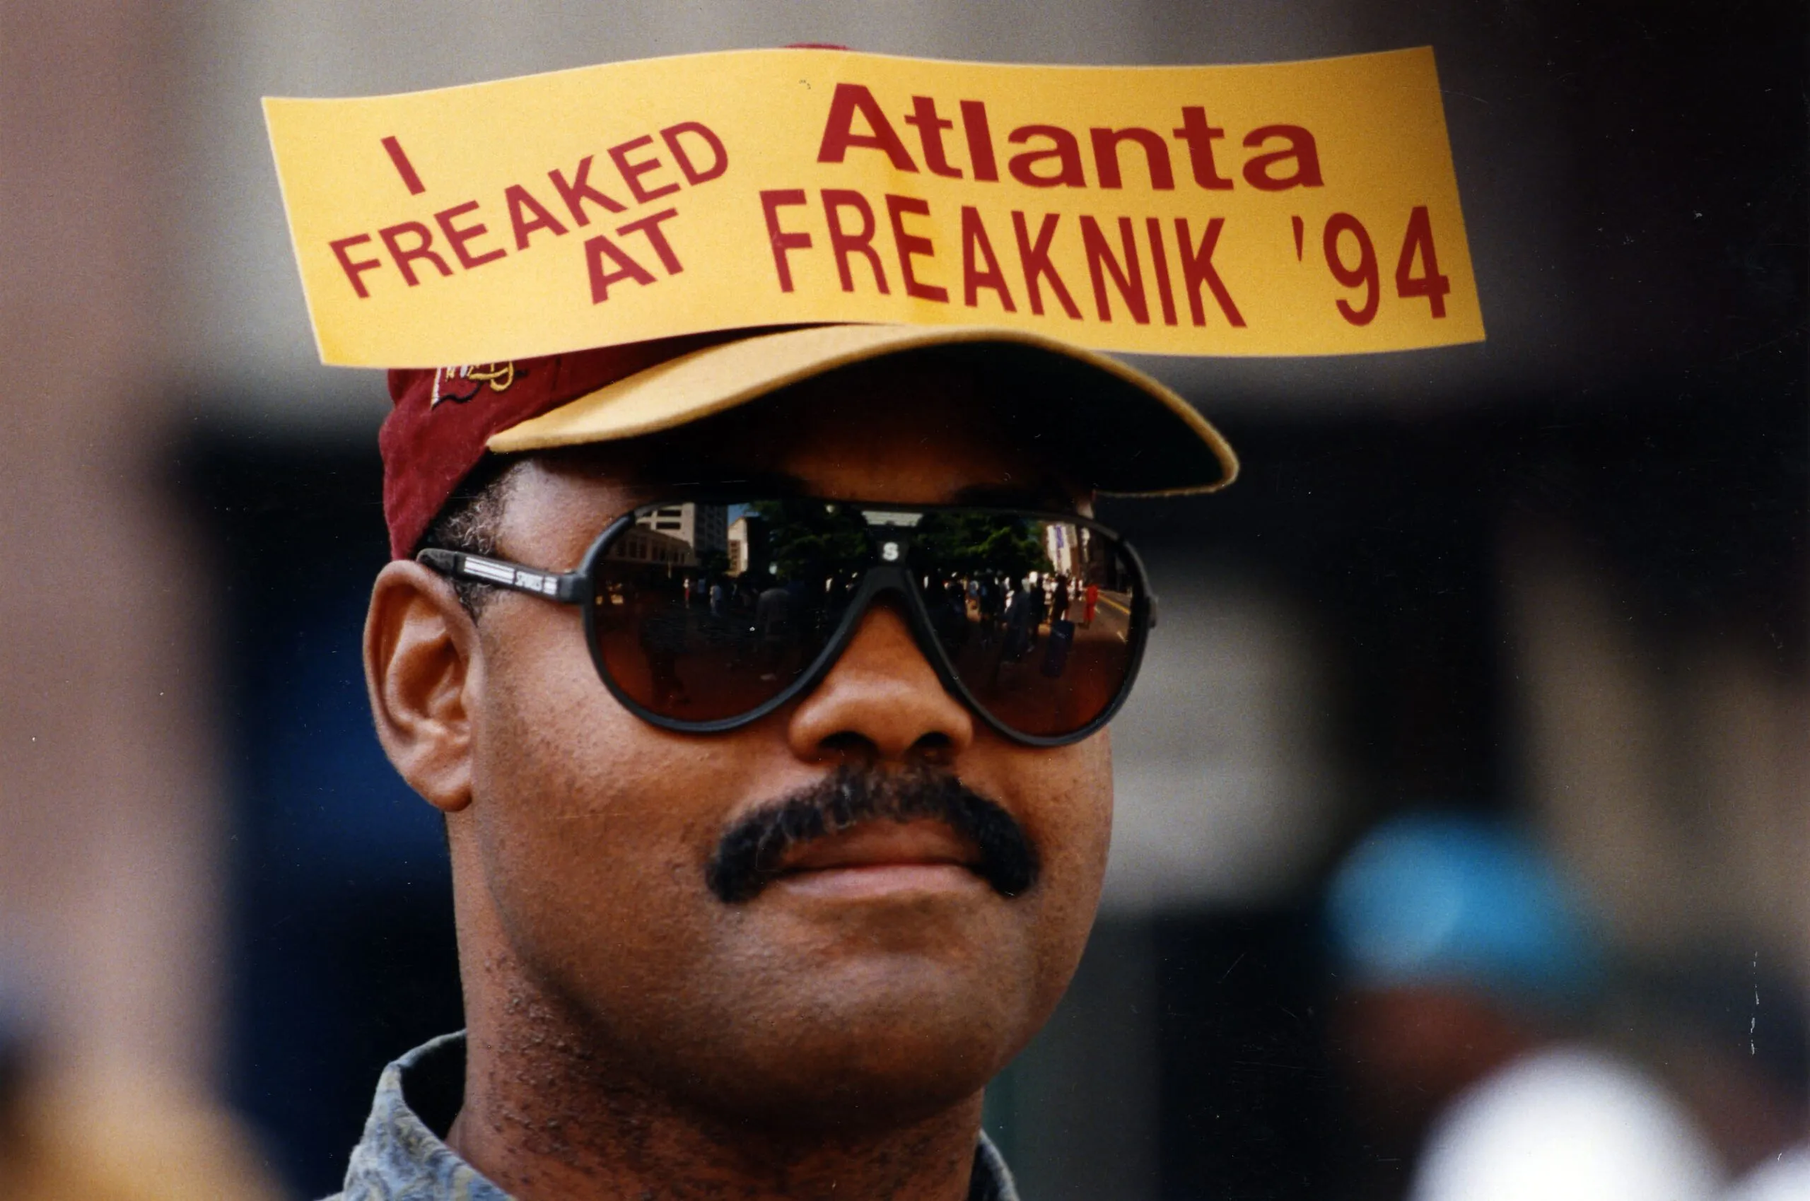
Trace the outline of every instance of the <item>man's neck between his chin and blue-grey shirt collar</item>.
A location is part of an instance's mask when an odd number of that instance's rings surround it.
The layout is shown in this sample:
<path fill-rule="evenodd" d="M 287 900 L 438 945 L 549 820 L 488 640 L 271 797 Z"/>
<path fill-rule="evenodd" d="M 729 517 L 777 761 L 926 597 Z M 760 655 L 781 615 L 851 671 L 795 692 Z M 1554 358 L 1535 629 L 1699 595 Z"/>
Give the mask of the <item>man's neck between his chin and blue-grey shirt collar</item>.
<path fill-rule="evenodd" d="M 465 1100 L 447 1143 L 519 1201 L 967 1199 L 979 1094 L 863 1130 L 700 1111 L 626 1071 L 606 1040 L 510 966 L 491 957 L 483 968 L 491 984 L 514 977 L 507 1004 L 467 995 Z"/>

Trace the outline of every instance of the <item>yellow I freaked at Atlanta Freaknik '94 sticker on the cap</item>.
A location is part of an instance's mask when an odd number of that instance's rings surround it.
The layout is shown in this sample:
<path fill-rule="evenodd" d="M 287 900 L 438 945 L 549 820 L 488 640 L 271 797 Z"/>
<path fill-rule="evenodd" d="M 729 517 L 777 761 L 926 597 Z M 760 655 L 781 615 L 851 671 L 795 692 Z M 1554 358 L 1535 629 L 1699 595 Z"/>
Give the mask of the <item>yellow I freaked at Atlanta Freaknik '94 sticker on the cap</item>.
<path fill-rule="evenodd" d="M 328 364 L 807 322 L 1158 355 L 1484 336 L 1424 47 L 1249 67 L 733 51 L 264 114 Z"/>

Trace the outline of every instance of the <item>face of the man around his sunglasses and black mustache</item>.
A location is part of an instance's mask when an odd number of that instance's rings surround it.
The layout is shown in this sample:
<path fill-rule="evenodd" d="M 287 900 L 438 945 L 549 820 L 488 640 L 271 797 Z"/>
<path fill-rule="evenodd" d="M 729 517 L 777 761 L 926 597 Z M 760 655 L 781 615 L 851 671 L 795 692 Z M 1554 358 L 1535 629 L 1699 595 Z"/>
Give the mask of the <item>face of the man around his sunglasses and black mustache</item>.
<path fill-rule="evenodd" d="M 498 553 L 572 568 L 624 510 L 744 472 L 827 499 L 1084 503 L 1023 450 L 1035 430 L 1012 449 L 979 402 L 959 376 L 881 364 L 538 459 L 512 479 Z M 1034 749 L 992 733 L 891 604 L 804 698 L 677 734 L 610 696 L 576 608 L 489 600 L 465 682 L 469 803 L 449 805 L 465 971 L 507 962 L 621 1067 L 728 1118 L 880 1125 L 970 1098 L 1081 957 L 1106 865 L 1108 740 Z M 880 819 L 805 841 L 751 899 L 719 899 L 706 870 L 724 832 L 838 769 L 959 778 L 1024 832 L 1037 883 L 1006 897 L 963 866 L 976 848 L 948 825 Z M 474 930 L 500 935 L 483 962 Z"/>

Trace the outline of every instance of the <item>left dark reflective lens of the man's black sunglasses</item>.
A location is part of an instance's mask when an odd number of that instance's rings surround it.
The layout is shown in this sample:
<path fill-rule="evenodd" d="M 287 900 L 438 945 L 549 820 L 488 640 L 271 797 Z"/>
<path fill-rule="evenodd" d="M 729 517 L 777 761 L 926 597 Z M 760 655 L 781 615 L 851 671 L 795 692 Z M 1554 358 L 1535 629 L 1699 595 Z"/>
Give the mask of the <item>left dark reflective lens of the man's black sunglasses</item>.
<path fill-rule="evenodd" d="M 746 716 L 809 671 L 869 557 L 860 515 L 822 501 L 652 510 L 595 564 L 597 666 L 659 716 Z"/>

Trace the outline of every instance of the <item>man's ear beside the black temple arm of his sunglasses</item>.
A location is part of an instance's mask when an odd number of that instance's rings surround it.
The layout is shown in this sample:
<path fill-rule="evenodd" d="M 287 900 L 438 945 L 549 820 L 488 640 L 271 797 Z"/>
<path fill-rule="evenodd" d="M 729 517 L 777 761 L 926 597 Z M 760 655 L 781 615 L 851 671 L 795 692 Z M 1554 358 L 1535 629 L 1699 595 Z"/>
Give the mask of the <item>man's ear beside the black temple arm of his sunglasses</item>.
<path fill-rule="evenodd" d="M 398 561 L 376 575 L 364 620 L 364 682 L 376 740 L 436 809 L 471 803 L 471 714 L 481 682 L 478 628 L 443 577 Z"/>

